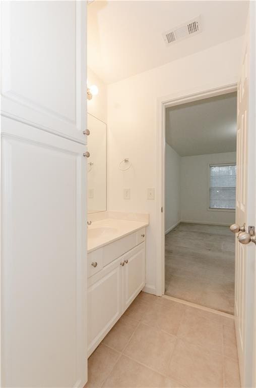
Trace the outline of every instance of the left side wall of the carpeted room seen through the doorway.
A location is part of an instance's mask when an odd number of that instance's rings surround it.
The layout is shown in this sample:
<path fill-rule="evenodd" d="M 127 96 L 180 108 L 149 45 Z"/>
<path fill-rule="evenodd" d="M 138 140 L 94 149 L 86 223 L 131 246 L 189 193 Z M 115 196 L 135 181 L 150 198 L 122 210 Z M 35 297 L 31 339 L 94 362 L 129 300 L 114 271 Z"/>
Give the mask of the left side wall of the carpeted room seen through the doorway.
<path fill-rule="evenodd" d="M 165 233 L 180 221 L 181 157 L 165 143 Z"/>

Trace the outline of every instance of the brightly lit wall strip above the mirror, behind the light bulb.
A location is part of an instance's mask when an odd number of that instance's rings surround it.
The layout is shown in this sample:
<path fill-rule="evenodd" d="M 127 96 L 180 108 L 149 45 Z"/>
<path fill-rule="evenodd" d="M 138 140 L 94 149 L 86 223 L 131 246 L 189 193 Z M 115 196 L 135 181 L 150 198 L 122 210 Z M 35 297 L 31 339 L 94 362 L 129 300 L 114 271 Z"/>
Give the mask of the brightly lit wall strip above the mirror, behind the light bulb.
<path fill-rule="evenodd" d="M 97 85 L 99 93 L 94 95 L 92 100 L 87 100 L 87 112 L 107 122 L 107 85 L 88 67 L 87 68 L 88 86 Z"/>

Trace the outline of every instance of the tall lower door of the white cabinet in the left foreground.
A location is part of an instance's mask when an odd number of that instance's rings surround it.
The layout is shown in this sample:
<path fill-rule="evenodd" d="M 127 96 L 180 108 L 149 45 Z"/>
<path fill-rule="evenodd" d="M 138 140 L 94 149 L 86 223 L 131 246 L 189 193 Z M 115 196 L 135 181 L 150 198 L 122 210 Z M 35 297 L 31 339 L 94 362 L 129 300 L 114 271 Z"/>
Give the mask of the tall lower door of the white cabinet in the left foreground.
<path fill-rule="evenodd" d="M 2 386 L 86 382 L 83 152 L 2 118 Z"/>

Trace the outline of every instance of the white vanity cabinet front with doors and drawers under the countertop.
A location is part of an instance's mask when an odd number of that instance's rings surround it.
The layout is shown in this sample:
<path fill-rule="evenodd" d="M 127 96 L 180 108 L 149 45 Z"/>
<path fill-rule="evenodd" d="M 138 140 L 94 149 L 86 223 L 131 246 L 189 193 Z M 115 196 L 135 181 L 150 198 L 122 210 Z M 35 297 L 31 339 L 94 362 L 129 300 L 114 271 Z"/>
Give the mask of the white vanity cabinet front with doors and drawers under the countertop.
<path fill-rule="evenodd" d="M 114 254 L 122 246 L 122 240 L 127 241 L 126 237 L 133 234 L 139 235 L 140 240 L 136 238 L 132 249 L 116 259 Z M 114 260 L 103 267 L 106 247 L 88 254 L 88 267 L 92 268 L 92 272 L 88 271 L 89 276 L 91 273 L 88 279 L 88 356 L 145 286 L 145 228 L 129 236 L 106 246 L 108 254 L 112 246 Z M 132 243 L 133 238 L 129 240 Z M 97 263 L 97 266 L 92 263 Z"/>

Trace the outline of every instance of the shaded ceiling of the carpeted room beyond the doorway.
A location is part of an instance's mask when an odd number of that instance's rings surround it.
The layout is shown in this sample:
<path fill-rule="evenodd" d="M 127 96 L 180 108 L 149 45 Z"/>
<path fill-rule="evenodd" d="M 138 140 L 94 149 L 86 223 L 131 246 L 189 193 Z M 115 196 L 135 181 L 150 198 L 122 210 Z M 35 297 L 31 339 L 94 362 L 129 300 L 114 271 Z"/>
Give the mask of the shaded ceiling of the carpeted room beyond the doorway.
<path fill-rule="evenodd" d="M 165 137 L 180 156 L 236 151 L 236 93 L 167 108 Z"/>

